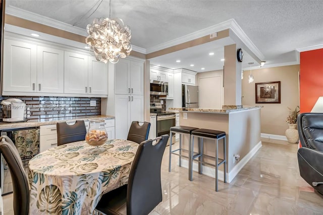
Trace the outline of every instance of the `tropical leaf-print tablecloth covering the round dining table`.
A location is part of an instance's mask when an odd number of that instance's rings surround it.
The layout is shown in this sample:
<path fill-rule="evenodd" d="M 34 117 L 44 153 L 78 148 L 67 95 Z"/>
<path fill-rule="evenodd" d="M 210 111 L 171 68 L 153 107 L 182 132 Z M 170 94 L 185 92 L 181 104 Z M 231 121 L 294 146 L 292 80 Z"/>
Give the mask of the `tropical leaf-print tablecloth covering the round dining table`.
<path fill-rule="evenodd" d="M 111 139 L 91 153 L 85 141 L 37 154 L 29 161 L 29 214 L 92 214 L 101 194 L 128 183 L 137 143 Z"/>

